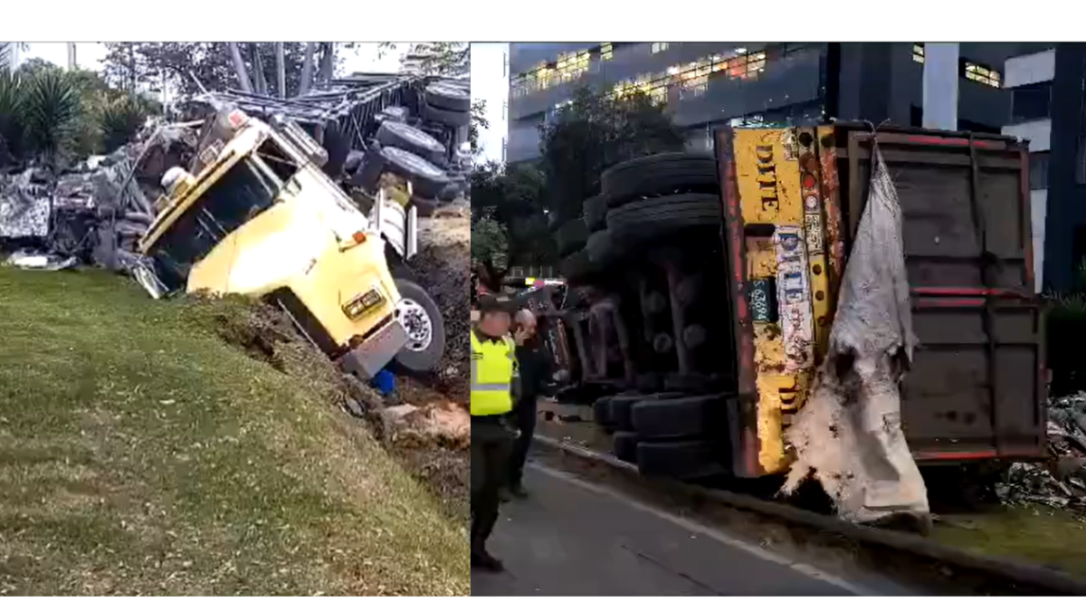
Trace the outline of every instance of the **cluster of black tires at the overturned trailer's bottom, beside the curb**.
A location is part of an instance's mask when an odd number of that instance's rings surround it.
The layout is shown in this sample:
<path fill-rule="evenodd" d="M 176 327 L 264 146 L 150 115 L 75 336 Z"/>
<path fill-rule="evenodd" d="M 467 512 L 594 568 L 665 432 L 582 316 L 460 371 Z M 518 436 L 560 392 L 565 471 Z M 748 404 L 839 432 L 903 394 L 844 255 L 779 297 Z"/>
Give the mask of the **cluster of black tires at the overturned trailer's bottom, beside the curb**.
<path fill-rule="evenodd" d="M 732 395 L 626 394 L 594 404 L 595 421 L 613 432 L 613 452 L 643 475 L 696 479 L 727 473 Z"/>

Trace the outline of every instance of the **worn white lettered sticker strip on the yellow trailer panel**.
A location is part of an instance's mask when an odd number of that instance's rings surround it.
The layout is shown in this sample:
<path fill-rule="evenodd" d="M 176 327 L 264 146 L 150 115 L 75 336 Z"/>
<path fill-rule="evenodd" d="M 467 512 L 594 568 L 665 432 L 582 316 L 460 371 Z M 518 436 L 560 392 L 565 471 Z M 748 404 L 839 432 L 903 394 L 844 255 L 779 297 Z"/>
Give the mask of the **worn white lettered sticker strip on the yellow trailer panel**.
<path fill-rule="evenodd" d="M 809 367 L 815 358 L 807 249 L 799 227 L 780 226 L 773 234 L 776 247 L 776 303 L 784 339 L 784 371 Z"/>

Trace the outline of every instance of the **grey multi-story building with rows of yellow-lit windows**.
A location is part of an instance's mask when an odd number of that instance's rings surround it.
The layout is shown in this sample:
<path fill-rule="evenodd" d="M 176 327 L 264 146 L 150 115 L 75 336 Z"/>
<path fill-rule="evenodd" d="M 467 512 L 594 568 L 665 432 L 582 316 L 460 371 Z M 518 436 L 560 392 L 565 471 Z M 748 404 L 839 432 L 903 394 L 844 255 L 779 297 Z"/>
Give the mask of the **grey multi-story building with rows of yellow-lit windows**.
<path fill-rule="evenodd" d="M 998 133 L 1009 122 L 1000 71 L 1007 58 L 1032 50 L 1039 49 L 961 43 L 959 128 Z M 581 86 L 666 100 L 692 149 L 711 147 L 720 125 L 838 117 L 919 126 L 923 63 L 923 43 L 515 42 L 506 160 L 538 158 L 539 126 Z"/>

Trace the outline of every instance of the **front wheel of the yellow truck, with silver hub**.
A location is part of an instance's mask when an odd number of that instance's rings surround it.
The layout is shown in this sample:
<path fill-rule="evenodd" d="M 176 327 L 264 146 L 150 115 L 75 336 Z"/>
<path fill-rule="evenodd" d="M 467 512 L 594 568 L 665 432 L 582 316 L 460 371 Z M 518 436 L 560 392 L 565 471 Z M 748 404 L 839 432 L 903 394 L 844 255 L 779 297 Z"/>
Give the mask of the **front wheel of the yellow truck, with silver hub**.
<path fill-rule="evenodd" d="M 407 331 L 407 345 L 395 356 L 395 361 L 413 373 L 431 372 L 445 352 L 441 310 L 417 284 L 402 278 L 395 283 L 401 300 L 394 315 Z"/>

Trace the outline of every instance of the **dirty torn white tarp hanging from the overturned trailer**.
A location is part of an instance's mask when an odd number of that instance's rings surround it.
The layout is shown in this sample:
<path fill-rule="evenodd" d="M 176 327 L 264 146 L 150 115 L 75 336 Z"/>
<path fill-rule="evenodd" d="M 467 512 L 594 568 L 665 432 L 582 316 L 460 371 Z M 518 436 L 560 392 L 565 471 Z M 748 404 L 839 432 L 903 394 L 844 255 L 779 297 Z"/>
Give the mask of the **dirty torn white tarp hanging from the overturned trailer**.
<path fill-rule="evenodd" d="M 882 153 L 842 279 L 829 352 L 810 399 L 786 433 L 795 448 L 785 492 L 813 472 L 838 515 L 869 522 L 926 515 L 927 490 L 901 431 L 898 383 L 915 336 L 901 210 Z"/>

